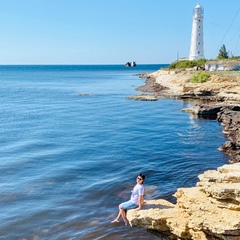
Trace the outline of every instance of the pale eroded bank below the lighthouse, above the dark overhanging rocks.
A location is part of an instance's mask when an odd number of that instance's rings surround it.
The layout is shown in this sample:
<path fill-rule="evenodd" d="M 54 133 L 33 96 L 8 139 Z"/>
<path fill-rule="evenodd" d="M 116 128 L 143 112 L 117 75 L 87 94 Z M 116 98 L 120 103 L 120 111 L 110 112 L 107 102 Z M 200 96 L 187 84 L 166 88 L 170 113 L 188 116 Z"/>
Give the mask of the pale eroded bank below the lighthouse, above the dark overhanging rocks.
<path fill-rule="evenodd" d="M 128 99 L 156 101 L 161 98 L 198 99 L 207 101 L 240 102 L 240 75 L 236 71 L 216 71 L 205 83 L 191 83 L 198 71 L 159 70 L 140 74 L 146 78 L 144 86 L 136 88 L 145 94 L 136 94 Z"/>

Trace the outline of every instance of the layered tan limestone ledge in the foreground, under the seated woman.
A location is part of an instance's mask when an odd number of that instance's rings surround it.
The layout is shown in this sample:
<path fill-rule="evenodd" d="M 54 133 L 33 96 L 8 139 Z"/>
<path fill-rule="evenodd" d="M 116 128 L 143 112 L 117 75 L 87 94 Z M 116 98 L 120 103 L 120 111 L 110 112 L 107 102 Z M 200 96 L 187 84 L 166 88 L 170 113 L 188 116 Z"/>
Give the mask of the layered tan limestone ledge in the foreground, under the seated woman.
<path fill-rule="evenodd" d="M 129 210 L 130 225 L 156 230 L 162 240 L 239 240 L 240 163 L 208 170 L 199 180 L 177 190 L 176 204 L 147 200 L 142 210 Z"/>

